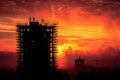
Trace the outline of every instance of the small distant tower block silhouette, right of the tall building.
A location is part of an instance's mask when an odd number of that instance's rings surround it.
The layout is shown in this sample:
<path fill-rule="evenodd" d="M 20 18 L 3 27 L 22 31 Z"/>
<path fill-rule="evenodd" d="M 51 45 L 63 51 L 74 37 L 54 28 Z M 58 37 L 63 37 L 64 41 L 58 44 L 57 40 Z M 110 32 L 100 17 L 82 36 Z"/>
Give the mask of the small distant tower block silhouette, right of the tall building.
<path fill-rule="evenodd" d="M 75 71 L 77 73 L 83 72 L 85 67 L 85 61 L 84 59 L 78 58 L 75 60 Z"/>

